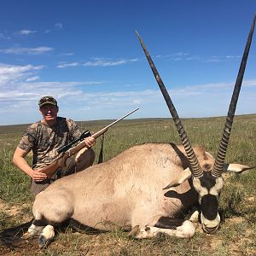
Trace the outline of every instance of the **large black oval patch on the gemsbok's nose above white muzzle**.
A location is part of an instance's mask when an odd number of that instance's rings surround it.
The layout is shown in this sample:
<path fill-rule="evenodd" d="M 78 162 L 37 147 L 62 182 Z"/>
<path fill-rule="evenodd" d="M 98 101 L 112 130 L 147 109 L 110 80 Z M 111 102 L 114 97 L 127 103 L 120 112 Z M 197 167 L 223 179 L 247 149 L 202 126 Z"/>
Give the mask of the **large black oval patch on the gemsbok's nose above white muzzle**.
<path fill-rule="evenodd" d="M 215 195 L 204 195 L 201 198 L 201 212 L 208 220 L 213 220 L 218 214 L 218 200 Z"/>

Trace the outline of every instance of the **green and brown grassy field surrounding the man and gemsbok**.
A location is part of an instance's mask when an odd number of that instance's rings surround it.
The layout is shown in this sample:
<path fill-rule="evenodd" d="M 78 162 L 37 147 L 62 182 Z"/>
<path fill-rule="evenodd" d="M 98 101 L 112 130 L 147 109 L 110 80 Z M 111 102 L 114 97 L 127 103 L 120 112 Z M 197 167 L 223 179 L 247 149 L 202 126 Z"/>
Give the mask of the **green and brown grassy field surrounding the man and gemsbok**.
<path fill-rule="evenodd" d="M 110 120 L 78 122 L 82 131 L 98 131 Z M 192 145 L 201 144 L 215 155 L 224 118 L 183 119 Z M 27 125 L 0 126 L 0 223 L 2 229 L 32 219 L 30 180 L 12 163 L 12 156 Z M 141 143 L 180 143 L 172 119 L 123 120 L 105 136 L 104 160 Z M 98 155 L 100 139 L 95 151 Z M 31 156 L 28 157 L 31 161 Z M 256 166 L 256 114 L 236 116 L 226 156 L 227 162 Z M 255 168 L 243 174 L 225 175 L 220 201 L 221 229 L 213 236 L 198 226 L 192 239 L 157 236 L 139 241 L 120 230 L 104 234 L 61 230 L 47 249 L 38 250 L 37 239 L 21 241 L 13 248 L 0 242 L 0 255 L 256 255 Z M 1 237 L 1 236 L 0 236 Z"/>

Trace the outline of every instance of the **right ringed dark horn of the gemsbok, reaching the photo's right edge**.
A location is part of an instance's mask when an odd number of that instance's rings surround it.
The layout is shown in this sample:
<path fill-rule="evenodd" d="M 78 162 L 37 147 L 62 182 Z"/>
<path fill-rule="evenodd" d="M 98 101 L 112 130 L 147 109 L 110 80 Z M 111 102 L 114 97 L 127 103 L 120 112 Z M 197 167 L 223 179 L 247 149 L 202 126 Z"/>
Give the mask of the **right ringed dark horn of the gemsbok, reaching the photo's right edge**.
<path fill-rule="evenodd" d="M 234 119 L 234 115 L 235 115 L 235 111 L 236 111 L 236 103 L 238 101 L 238 96 L 239 96 L 240 89 L 241 89 L 241 82 L 243 79 L 243 74 L 244 74 L 245 68 L 247 66 L 247 57 L 248 57 L 249 49 L 250 49 L 250 46 L 252 43 L 255 19 L 256 19 L 256 15 L 254 15 L 253 25 L 251 27 L 251 31 L 249 32 L 249 35 L 247 38 L 247 45 L 246 45 L 246 47 L 244 49 L 244 53 L 242 55 L 239 72 L 238 72 L 237 78 L 236 78 L 235 88 L 234 88 L 233 95 L 232 95 L 231 102 L 230 102 L 229 112 L 228 112 L 226 122 L 224 125 L 223 136 L 221 138 L 221 141 L 220 141 L 220 144 L 218 147 L 218 153 L 217 153 L 215 163 L 213 166 L 212 175 L 214 177 L 221 177 L 221 173 L 223 171 L 224 159 L 225 159 L 225 155 L 227 152 L 229 139 L 230 139 L 230 132 L 231 132 L 232 123 L 233 123 L 233 119 Z"/>

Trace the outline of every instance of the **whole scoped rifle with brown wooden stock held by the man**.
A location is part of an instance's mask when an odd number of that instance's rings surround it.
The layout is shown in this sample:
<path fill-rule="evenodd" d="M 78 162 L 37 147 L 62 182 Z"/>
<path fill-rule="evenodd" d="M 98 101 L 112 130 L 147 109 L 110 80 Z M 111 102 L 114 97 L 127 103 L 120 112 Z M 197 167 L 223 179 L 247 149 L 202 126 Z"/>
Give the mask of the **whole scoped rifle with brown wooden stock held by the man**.
<path fill-rule="evenodd" d="M 116 123 L 118 123 L 120 120 L 125 119 L 125 117 L 127 117 L 128 115 L 130 115 L 131 113 L 134 113 L 135 111 L 137 111 L 138 108 L 132 110 L 130 113 L 126 113 L 123 117 L 121 117 L 120 119 L 115 120 L 113 123 L 111 123 L 110 125 L 107 125 L 106 127 L 102 128 L 102 130 L 97 131 L 96 133 L 90 135 L 90 131 L 84 131 L 79 137 L 75 138 L 73 140 L 73 142 L 68 143 L 67 145 L 62 146 L 61 148 L 57 149 L 57 152 L 60 154 L 62 152 L 65 152 L 63 155 L 60 156 L 59 159 L 55 160 L 54 162 L 52 162 L 51 164 L 49 164 L 49 166 L 45 166 L 44 168 L 42 168 L 40 170 L 40 172 L 44 172 L 47 177 L 52 177 L 52 175 L 58 171 L 60 168 L 64 168 L 65 164 L 66 164 L 66 160 L 68 157 L 70 157 L 73 154 L 78 153 L 82 148 L 85 148 L 86 145 L 84 143 L 84 138 L 85 137 L 94 137 L 95 139 L 97 137 L 102 136 L 102 134 L 104 134 L 106 131 L 108 131 L 108 128 L 111 127 L 112 125 L 115 125 Z M 74 146 L 72 148 L 72 145 L 74 143 L 77 143 L 81 141 L 81 143 L 77 144 L 76 146 Z"/>

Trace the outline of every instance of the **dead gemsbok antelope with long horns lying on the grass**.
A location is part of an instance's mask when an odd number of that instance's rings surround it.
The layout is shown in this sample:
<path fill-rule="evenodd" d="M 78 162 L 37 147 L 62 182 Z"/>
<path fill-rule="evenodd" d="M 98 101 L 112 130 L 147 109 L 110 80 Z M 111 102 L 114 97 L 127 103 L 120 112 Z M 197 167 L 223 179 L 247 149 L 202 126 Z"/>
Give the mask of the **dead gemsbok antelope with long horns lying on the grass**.
<path fill-rule="evenodd" d="M 181 212 L 198 204 L 202 229 L 210 234 L 218 230 L 218 201 L 224 186 L 222 172 L 250 169 L 248 166 L 224 164 L 224 158 L 255 18 L 215 160 L 204 148 L 192 148 L 190 145 L 166 87 L 137 33 L 183 145 L 138 145 L 112 160 L 55 181 L 36 196 L 32 209 L 35 219 L 24 237 L 40 234 L 38 245 L 45 247 L 55 236 L 54 226 L 68 219 L 96 230 L 111 230 L 113 226 L 130 227 L 131 234 L 137 238 L 156 236 L 160 232 L 191 237 L 195 235 L 192 218 L 184 220 Z M 195 218 L 195 215 L 192 217 Z"/>

